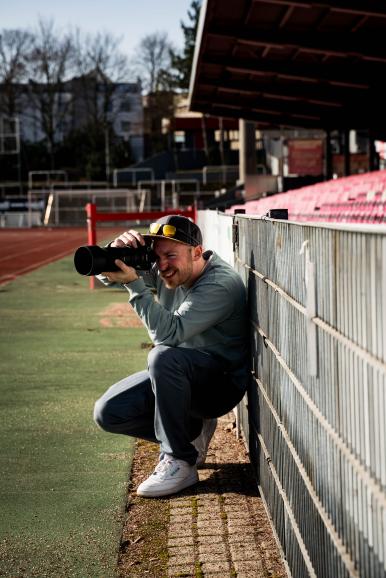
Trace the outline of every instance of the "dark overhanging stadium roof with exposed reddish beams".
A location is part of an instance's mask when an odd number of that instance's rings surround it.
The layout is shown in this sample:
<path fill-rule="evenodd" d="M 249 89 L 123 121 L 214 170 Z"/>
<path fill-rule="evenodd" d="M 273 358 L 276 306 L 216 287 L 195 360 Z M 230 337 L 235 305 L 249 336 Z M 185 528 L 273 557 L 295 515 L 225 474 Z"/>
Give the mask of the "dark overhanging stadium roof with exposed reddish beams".
<path fill-rule="evenodd" d="M 204 0 L 191 110 L 386 140 L 384 0 Z"/>

